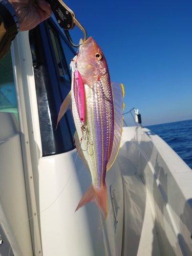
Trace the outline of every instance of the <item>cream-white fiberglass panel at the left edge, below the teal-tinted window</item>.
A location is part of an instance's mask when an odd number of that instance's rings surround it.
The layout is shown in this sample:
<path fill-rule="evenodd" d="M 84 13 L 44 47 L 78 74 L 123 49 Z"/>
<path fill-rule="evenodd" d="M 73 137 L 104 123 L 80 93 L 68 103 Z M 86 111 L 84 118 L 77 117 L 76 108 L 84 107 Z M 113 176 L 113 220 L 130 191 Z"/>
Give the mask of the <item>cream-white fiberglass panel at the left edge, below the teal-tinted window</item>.
<path fill-rule="evenodd" d="M 0 113 L 0 255 L 33 255 L 22 160 L 13 113 Z M 12 255 L 12 254 L 10 254 Z"/>

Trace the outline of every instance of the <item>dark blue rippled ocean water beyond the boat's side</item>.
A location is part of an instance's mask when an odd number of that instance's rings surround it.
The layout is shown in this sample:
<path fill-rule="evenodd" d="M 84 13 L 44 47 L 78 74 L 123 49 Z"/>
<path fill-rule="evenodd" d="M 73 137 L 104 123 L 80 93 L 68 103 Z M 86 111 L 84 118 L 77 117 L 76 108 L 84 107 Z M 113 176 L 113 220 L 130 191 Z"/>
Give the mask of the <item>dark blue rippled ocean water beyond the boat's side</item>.
<path fill-rule="evenodd" d="M 192 169 L 192 120 L 146 126 L 161 137 Z"/>

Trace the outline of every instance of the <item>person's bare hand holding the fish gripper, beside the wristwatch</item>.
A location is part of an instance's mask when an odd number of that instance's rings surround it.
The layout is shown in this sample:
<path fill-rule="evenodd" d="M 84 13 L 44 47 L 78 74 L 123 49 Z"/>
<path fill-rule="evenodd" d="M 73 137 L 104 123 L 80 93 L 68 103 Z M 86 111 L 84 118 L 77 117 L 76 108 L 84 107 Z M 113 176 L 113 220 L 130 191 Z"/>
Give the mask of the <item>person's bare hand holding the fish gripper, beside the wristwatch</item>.
<path fill-rule="evenodd" d="M 20 31 L 35 28 L 52 14 L 51 6 L 45 0 L 8 0 L 15 9 Z"/>

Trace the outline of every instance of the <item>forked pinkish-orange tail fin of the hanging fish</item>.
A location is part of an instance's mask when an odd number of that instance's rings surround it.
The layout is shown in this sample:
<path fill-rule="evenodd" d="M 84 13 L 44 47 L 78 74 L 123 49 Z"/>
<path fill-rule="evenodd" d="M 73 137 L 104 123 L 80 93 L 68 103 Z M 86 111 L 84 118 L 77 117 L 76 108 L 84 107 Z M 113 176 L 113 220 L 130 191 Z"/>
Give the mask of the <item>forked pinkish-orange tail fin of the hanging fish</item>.
<path fill-rule="evenodd" d="M 86 191 L 86 193 L 84 193 L 83 197 L 81 198 L 75 211 L 77 211 L 83 205 L 86 205 L 91 202 L 95 202 L 96 205 L 99 207 L 104 218 L 104 223 L 106 217 L 108 216 L 108 191 L 106 189 L 105 184 L 102 186 L 102 188 L 97 188 L 93 187 L 93 184 L 91 183 L 88 190 Z"/>

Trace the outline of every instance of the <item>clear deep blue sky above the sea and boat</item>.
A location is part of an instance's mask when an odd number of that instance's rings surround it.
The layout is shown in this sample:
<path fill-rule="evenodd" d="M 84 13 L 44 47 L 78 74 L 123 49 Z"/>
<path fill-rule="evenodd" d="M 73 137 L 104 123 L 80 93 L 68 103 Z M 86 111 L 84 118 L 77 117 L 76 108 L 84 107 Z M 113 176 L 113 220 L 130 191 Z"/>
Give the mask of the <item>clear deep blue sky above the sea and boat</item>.
<path fill-rule="evenodd" d="M 192 119 L 191 0 L 64 2 L 124 84 L 125 112 L 139 109 L 144 126 Z M 83 35 L 71 36 L 77 44 Z"/>

